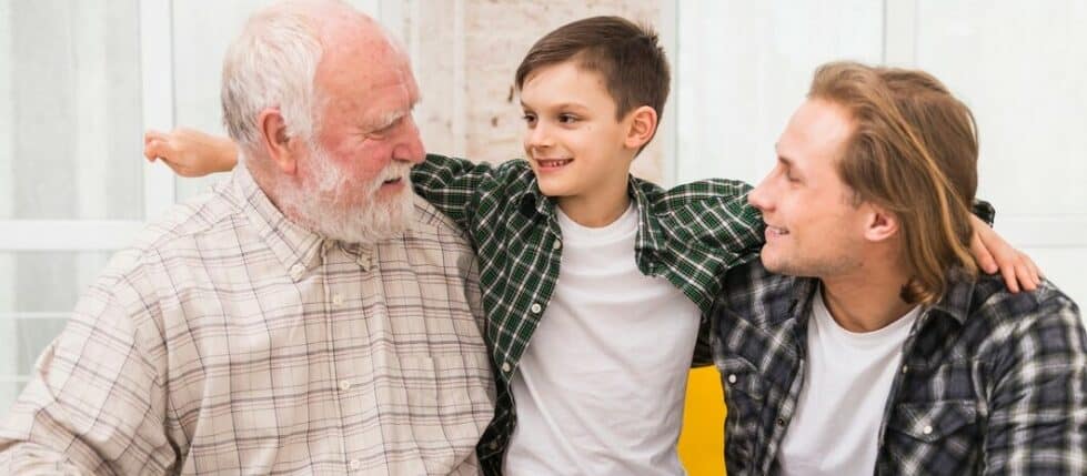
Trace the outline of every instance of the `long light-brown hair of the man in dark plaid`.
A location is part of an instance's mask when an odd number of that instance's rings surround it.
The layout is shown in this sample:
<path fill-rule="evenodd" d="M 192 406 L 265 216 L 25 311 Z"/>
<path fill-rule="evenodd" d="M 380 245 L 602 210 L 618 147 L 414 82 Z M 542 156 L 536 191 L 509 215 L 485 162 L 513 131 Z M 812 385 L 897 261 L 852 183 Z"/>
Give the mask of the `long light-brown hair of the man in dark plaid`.
<path fill-rule="evenodd" d="M 950 269 L 976 274 L 969 254 L 970 204 L 977 190 L 974 114 L 924 71 L 828 63 L 815 72 L 812 99 L 844 107 L 853 135 L 838 173 L 855 192 L 898 217 L 913 278 L 908 303 L 943 296 Z"/>

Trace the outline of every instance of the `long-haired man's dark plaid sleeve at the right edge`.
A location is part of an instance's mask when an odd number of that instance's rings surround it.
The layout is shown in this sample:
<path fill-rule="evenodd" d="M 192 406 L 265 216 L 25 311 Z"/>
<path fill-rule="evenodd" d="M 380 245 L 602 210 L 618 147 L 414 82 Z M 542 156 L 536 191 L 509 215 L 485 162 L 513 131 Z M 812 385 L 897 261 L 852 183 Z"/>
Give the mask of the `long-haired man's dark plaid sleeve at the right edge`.
<path fill-rule="evenodd" d="M 994 361 L 985 474 L 1087 474 L 1087 337 L 1075 303 L 1039 293 L 1050 298 L 1013 327 Z"/>

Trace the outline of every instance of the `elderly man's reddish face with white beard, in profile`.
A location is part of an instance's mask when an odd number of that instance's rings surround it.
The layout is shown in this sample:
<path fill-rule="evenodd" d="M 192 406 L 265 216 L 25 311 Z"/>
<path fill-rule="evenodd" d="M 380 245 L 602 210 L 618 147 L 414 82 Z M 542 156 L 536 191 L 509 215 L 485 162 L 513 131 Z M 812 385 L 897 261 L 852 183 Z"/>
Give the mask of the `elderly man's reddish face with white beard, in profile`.
<path fill-rule="evenodd" d="M 376 32 L 341 36 L 325 47 L 314 81 L 318 132 L 299 161 L 299 192 L 311 196 L 300 196 L 310 202 L 301 207 L 338 240 L 402 232 L 412 212 L 410 170 L 424 158 L 407 59 Z"/>

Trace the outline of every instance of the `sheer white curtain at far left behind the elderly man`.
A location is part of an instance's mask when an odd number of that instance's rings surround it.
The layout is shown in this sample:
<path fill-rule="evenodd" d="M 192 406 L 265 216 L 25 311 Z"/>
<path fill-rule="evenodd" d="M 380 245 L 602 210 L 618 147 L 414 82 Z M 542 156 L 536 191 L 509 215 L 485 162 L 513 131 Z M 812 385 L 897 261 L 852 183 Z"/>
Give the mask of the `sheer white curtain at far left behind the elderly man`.
<path fill-rule="evenodd" d="M 143 220 L 141 114 L 138 0 L 0 0 L 0 221 Z M 0 250 L 0 412 L 109 254 Z"/>

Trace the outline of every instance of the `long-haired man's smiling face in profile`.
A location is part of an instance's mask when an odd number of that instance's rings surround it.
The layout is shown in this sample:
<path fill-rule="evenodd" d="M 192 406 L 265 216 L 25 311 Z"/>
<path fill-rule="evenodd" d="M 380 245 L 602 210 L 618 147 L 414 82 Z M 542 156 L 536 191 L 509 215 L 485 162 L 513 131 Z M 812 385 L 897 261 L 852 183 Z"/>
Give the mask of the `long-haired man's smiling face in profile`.
<path fill-rule="evenodd" d="M 748 195 L 766 222 L 767 270 L 828 277 L 860 265 L 863 213 L 836 168 L 853 128 L 844 109 L 823 100 L 793 114 L 777 142 L 777 164 Z"/>

